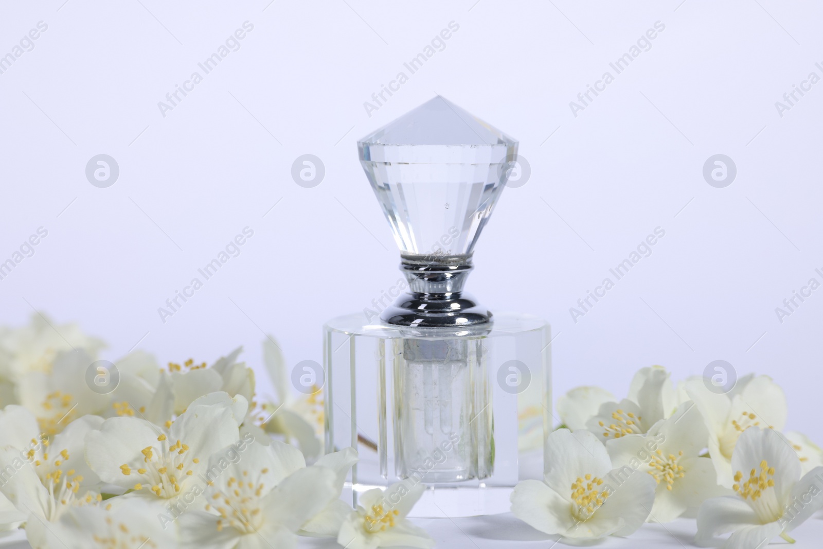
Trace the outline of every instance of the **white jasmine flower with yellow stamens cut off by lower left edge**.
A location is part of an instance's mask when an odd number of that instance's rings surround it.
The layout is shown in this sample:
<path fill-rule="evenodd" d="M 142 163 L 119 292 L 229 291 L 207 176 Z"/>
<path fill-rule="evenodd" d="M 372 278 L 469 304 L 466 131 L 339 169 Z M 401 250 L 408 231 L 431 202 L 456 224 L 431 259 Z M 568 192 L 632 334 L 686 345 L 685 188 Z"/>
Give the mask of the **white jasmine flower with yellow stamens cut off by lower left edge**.
<path fill-rule="evenodd" d="M 26 522 L 32 547 L 47 547 L 46 523 L 60 519 L 73 506 L 96 505 L 100 483 L 83 455 L 86 435 L 103 419 L 83 416 L 49 438 L 40 433 L 35 417 L 25 408 L 7 406 L 0 412 L 0 492 L 17 514 L 3 522 Z"/>

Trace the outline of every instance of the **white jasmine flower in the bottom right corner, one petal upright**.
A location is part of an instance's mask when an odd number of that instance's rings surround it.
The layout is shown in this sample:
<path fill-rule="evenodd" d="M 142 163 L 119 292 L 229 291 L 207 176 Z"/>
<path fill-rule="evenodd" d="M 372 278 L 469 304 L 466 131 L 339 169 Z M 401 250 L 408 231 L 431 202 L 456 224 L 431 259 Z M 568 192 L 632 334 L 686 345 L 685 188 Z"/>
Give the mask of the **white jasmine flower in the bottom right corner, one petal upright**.
<path fill-rule="evenodd" d="M 754 383 L 752 381 L 752 383 Z M 698 545 L 714 545 L 732 532 L 725 549 L 764 547 L 788 536 L 823 507 L 823 467 L 800 476 L 800 460 L 783 435 L 772 429 L 746 429 L 732 454 L 737 495 L 706 500 L 697 515 Z"/>

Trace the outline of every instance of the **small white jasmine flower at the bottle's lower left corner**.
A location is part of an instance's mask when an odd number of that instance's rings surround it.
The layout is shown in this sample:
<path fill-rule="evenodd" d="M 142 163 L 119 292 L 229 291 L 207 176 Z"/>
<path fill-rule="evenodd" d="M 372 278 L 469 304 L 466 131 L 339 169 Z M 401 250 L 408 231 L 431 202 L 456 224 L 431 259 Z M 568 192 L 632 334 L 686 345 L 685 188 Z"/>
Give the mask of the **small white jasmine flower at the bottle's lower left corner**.
<path fill-rule="evenodd" d="M 388 486 L 386 491 L 374 488 L 364 492 L 357 509 L 342 523 L 337 543 L 348 549 L 435 547 L 435 540 L 406 518 L 424 491 L 425 485 L 406 480 Z"/>

